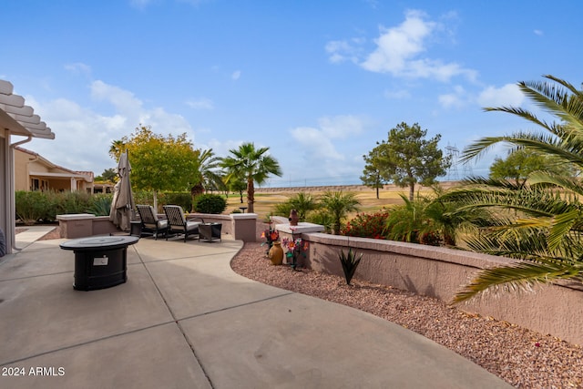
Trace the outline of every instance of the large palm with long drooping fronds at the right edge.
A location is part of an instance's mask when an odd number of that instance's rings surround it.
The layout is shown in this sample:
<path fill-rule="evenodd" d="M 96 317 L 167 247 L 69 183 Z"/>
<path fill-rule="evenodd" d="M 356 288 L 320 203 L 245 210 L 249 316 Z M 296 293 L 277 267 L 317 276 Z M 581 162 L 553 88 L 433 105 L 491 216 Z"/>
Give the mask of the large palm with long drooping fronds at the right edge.
<path fill-rule="evenodd" d="M 583 91 L 557 77 L 545 77 L 547 81 L 520 82 L 518 87 L 558 122 L 547 123 L 520 107 L 487 107 L 486 111 L 525 118 L 543 131 L 482 138 L 465 149 L 465 161 L 504 142 L 551 156 L 576 171 L 583 169 Z M 583 185 L 579 179 L 539 170 L 530 173 L 524 186 L 503 179 L 476 178 L 465 183 L 442 200 L 459 201 L 457 212 L 489 211 L 489 225 L 468 246 L 526 261 L 479 272 L 457 293 L 455 302 L 497 287 L 517 289 L 534 282 L 583 280 L 583 204 L 578 200 Z"/>

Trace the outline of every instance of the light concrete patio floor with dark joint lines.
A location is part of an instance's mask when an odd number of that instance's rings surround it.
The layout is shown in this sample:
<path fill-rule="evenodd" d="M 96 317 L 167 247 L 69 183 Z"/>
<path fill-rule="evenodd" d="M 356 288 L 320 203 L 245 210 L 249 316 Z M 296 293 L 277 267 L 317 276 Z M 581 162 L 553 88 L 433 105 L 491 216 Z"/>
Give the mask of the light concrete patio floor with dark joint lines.
<path fill-rule="evenodd" d="M 0 259 L 2 388 L 510 387 L 392 322 L 239 276 L 229 235 L 142 238 L 128 282 L 80 292 L 74 253 L 33 232 Z"/>

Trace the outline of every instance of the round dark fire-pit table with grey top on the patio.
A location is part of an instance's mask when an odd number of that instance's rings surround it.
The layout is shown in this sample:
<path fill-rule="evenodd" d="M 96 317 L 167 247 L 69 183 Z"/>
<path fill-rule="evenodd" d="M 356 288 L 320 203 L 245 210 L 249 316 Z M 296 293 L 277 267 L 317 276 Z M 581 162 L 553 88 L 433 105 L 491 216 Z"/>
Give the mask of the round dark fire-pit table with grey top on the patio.
<path fill-rule="evenodd" d="M 93 291 L 128 281 L 128 246 L 138 240 L 137 236 L 114 235 L 61 243 L 61 249 L 75 252 L 73 288 L 77 291 Z"/>

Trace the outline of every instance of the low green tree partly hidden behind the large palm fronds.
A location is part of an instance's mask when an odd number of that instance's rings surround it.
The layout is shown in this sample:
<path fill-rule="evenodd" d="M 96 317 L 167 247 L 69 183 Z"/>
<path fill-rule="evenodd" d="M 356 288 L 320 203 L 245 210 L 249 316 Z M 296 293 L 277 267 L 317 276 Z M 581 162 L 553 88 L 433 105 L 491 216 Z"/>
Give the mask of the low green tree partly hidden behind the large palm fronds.
<path fill-rule="evenodd" d="M 546 170 L 556 176 L 573 176 L 574 169 L 555 157 L 525 148 L 513 149 L 506 159 L 496 158 L 490 166 L 490 179 L 512 179 L 524 185 L 528 176 L 538 170 Z"/>

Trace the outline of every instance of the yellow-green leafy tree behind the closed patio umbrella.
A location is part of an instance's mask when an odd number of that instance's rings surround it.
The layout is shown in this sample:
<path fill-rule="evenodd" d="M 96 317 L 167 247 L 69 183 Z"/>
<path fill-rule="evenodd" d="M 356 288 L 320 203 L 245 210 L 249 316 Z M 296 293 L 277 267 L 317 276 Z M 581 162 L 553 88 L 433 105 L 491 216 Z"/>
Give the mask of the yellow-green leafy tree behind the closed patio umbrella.
<path fill-rule="evenodd" d="M 163 137 L 149 126 L 140 126 L 120 142 L 128 150 L 132 186 L 152 190 L 155 210 L 160 190 L 189 190 L 199 177 L 200 151 L 192 148 L 186 134 Z"/>

